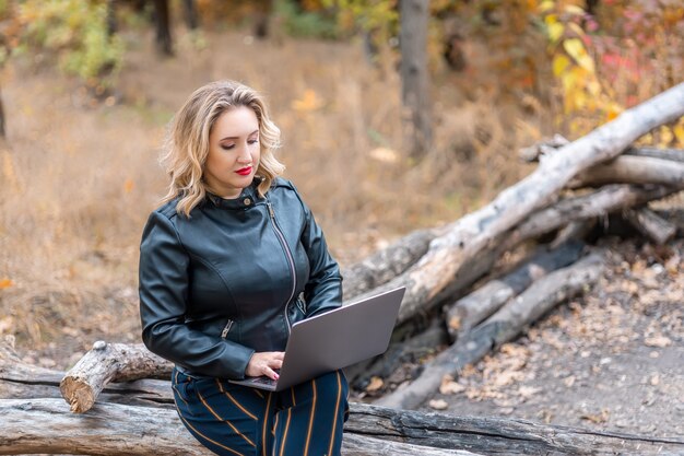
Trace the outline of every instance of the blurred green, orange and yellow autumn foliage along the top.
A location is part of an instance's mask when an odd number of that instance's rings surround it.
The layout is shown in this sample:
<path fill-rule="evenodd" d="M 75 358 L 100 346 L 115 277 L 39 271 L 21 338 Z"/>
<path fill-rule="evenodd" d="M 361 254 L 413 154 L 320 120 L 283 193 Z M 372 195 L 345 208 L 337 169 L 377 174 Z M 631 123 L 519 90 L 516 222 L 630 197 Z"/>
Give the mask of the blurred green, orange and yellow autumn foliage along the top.
<path fill-rule="evenodd" d="M 402 44 L 406 38 L 401 32 L 401 3 L 0 0 L 0 62 L 31 52 L 35 63 L 54 61 L 102 94 L 116 84 L 125 52 L 117 21 L 130 27 L 150 26 L 154 20 L 158 49 L 166 55 L 173 52 L 174 17 L 185 17 L 190 30 L 201 23 L 219 33 L 228 25 L 251 26 L 257 36 L 267 35 L 270 24 L 279 37 L 365 36 L 372 61 L 384 71 L 403 69 L 408 77 L 424 70 L 425 78 L 432 74 L 450 82 L 460 78 L 469 92 L 495 90 L 500 96 L 551 109 L 556 128 L 571 135 L 614 118 L 681 81 L 684 72 L 681 0 L 416 1 L 429 7 L 429 15 L 422 20 L 426 22 L 425 45 L 420 45 L 424 51 L 416 54 L 413 48 L 403 63 L 401 52 L 409 51 L 409 44 Z M 684 144 L 684 124 L 667 126 L 652 139 Z M 414 145 L 409 149 L 416 150 Z"/>

